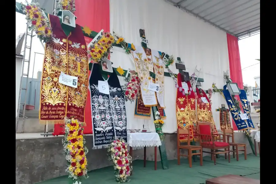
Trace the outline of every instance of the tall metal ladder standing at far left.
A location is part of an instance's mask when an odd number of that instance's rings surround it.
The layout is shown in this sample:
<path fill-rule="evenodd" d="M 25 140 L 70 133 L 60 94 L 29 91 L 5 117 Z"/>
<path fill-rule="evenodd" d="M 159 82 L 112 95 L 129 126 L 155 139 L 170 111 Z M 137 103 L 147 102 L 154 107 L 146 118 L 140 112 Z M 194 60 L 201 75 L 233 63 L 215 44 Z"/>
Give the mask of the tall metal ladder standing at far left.
<path fill-rule="evenodd" d="M 31 36 L 31 40 L 30 40 L 30 46 L 27 46 L 27 38 L 28 36 Z M 16 117 L 16 129 L 15 129 L 15 133 L 23 133 L 24 130 L 24 121 L 25 121 L 25 110 L 26 110 L 26 101 L 27 101 L 27 88 L 28 88 L 28 79 L 29 79 L 29 69 L 30 69 L 30 59 L 31 59 L 31 46 L 32 46 L 32 41 L 33 41 L 33 32 L 28 33 L 28 25 L 26 28 L 26 35 L 25 35 L 25 45 L 24 45 L 24 56 L 23 56 L 23 63 L 22 63 L 22 72 L 21 72 L 21 79 L 20 79 L 20 90 L 19 90 L 19 98 L 18 98 L 18 105 L 17 105 L 17 117 Z M 29 59 L 25 59 L 26 58 L 26 50 L 29 49 Z M 25 66 L 25 62 L 28 63 L 28 70 L 27 73 L 24 73 L 24 66 Z M 26 77 L 26 84 L 25 87 L 22 87 L 22 79 L 23 77 Z M 25 90 L 25 98 L 24 98 L 24 103 L 21 103 L 21 94 L 22 94 L 22 90 Z M 23 114 L 20 113 L 20 106 L 23 105 Z M 22 115 L 22 117 L 19 117 L 19 115 Z M 18 130 L 18 124 L 19 124 L 19 119 L 22 119 L 22 131 L 21 132 L 17 132 Z"/>

